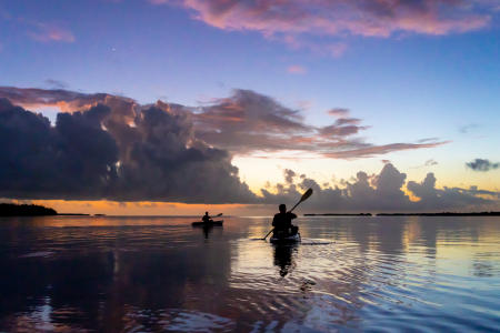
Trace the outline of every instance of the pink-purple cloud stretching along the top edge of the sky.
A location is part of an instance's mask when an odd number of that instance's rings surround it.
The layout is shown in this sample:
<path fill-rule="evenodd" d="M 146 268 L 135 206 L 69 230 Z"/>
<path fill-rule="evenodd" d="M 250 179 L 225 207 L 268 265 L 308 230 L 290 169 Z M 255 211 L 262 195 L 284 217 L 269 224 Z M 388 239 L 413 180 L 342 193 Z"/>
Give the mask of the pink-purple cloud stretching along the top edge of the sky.
<path fill-rule="evenodd" d="M 487 27 L 498 4 L 481 0 L 149 0 L 174 4 L 192 17 L 222 30 L 257 31 L 292 48 L 317 49 L 309 37 L 348 34 L 388 38 L 397 33 L 443 36 Z M 344 43 L 326 43 L 324 51 L 340 57 Z"/>

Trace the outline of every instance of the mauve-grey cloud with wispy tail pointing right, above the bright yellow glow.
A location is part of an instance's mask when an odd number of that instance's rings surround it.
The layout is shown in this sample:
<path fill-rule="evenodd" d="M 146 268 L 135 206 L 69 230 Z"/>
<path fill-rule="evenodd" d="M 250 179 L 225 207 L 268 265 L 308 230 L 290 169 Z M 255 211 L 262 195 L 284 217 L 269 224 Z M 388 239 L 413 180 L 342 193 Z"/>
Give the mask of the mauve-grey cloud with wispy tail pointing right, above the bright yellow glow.
<path fill-rule="evenodd" d="M 336 109 L 334 114 L 342 115 L 333 124 L 312 127 L 303 122 L 300 110 L 289 109 L 254 91 L 234 90 L 233 95 L 199 108 L 193 118 L 198 138 L 239 154 L 288 150 L 356 159 L 447 143 L 367 143 L 352 135 L 369 127 L 359 125 L 360 119 L 346 118 L 347 113 L 344 109 Z"/>

